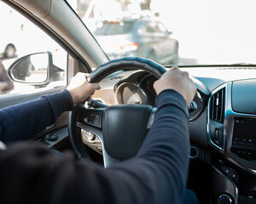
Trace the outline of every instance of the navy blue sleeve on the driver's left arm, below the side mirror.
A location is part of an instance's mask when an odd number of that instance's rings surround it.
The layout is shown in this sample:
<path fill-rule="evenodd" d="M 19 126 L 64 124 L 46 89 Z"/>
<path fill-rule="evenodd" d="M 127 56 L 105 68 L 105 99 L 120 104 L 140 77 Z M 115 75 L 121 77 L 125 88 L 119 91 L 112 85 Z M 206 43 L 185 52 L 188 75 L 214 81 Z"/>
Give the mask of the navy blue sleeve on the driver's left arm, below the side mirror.
<path fill-rule="evenodd" d="M 4 143 L 32 139 L 52 125 L 64 111 L 73 108 L 73 99 L 64 89 L 19 105 L 0 110 L 0 140 Z"/>

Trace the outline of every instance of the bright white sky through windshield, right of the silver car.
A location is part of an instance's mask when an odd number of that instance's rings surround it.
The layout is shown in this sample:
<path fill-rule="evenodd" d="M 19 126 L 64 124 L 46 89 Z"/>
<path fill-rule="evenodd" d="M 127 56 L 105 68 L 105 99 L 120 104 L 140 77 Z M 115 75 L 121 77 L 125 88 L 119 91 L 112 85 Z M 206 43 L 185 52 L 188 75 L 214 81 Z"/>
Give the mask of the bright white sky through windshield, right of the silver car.
<path fill-rule="evenodd" d="M 152 0 L 180 43 L 180 55 L 200 64 L 256 63 L 256 1 Z M 215 63 L 216 64 L 216 63 Z"/>

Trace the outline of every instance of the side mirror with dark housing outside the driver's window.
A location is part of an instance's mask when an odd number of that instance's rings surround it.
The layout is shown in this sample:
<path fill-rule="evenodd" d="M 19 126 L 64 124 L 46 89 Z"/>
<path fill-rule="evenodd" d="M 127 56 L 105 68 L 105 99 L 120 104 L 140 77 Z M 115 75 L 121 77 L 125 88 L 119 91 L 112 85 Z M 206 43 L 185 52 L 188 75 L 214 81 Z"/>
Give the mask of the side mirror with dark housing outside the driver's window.
<path fill-rule="evenodd" d="M 53 65 L 50 52 L 29 54 L 9 66 L 9 78 L 14 82 L 29 85 L 47 85 L 49 82 L 63 80 L 64 71 Z"/>

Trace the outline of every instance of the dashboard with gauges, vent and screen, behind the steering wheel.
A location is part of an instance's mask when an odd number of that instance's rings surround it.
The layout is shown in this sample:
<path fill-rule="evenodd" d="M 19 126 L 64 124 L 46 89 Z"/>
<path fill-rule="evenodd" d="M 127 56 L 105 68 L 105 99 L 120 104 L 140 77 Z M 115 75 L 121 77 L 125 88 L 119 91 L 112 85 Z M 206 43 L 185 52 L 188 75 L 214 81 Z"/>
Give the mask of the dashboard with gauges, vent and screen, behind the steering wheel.
<path fill-rule="evenodd" d="M 247 197 L 256 203 L 256 79 L 252 78 L 256 76 L 255 68 L 181 69 L 193 75 L 197 88 L 188 105 L 189 157 L 210 163 L 213 185 L 218 186 L 216 196 L 230 196 L 235 203 Z M 102 80 L 101 91 L 111 93 L 114 99 L 98 100 L 107 105 L 154 106 L 156 80 L 145 71 L 113 73 Z M 91 135 L 88 139 L 82 132 L 84 144 L 102 154 L 100 140 Z"/>

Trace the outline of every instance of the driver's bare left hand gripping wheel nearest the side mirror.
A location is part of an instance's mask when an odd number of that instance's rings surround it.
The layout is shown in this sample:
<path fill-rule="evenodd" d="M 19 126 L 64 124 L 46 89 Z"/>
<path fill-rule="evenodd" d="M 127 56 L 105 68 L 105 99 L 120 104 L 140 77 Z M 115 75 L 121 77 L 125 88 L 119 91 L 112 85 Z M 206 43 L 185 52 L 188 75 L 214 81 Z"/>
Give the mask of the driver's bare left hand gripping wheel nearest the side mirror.
<path fill-rule="evenodd" d="M 86 77 L 87 76 L 84 73 L 77 73 L 76 76 L 71 79 L 67 87 L 67 90 L 73 98 L 74 106 L 84 99 L 89 101 L 95 91 L 101 89 L 101 86 L 98 83 L 87 82 Z"/>

